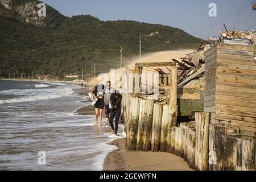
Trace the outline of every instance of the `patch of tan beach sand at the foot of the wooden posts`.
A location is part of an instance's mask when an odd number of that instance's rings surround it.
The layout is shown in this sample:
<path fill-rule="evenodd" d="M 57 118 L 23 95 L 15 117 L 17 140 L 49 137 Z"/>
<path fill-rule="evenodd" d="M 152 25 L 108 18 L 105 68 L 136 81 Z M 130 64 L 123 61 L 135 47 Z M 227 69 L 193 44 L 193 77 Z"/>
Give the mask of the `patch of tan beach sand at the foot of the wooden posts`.
<path fill-rule="evenodd" d="M 193 171 L 184 159 L 167 152 L 128 151 L 126 139 L 109 143 L 118 147 L 105 159 L 104 171 Z"/>

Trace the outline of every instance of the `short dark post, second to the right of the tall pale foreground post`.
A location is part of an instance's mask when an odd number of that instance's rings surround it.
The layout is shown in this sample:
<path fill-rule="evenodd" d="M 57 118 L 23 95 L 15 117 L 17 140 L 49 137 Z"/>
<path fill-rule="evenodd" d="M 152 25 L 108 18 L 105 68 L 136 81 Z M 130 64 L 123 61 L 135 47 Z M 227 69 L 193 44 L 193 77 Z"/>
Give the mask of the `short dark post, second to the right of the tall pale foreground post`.
<path fill-rule="evenodd" d="M 236 171 L 237 168 L 237 139 L 228 135 L 222 136 L 223 170 Z"/>

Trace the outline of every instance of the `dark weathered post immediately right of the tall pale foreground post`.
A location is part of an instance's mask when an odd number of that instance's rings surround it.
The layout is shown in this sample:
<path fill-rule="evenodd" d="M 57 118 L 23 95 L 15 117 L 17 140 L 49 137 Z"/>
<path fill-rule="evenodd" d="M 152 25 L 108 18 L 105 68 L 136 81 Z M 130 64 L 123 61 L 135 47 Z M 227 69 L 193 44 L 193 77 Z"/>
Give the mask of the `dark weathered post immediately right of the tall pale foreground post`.
<path fill-rule="evenodd" d="M 222 135 L 224 126 L 209 125 L 209 171 L 222 171 Z"/>

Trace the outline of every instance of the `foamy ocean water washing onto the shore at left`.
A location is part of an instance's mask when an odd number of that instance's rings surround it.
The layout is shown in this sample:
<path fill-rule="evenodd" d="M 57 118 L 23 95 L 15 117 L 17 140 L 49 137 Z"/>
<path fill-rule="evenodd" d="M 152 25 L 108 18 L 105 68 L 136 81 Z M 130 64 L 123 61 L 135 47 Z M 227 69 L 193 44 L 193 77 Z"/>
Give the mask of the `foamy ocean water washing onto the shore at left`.
<path fill-rule="evenodd" d="M 110 127 L 93 125 L 93 115 L 76 110 L 89 105 L 75 90 L 57 82 L 0 80 L 0 170 L 102 170 L 117 147 Z"/>

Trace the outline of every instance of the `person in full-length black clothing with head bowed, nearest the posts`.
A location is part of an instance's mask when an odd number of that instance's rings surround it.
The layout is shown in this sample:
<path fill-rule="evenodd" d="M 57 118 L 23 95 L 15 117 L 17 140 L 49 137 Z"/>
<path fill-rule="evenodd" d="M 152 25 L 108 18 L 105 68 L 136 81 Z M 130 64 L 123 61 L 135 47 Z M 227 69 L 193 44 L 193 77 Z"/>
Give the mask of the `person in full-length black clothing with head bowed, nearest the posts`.
<path fill-rule="evenodd" d="M 122 96 L 117 92 L 113 93 L 110 97 L 110 102 L 112 104 L 112 111 L 109 118 L 109 124 L 112 127 L 112 133 L 115 135 L 117 135 L 118 122 L 119 122 L 119 117 L 121 115 L 121 101 L 122 101 Z M 114 118 L 115 118 L 115 126 L 113 125 Z"/>

